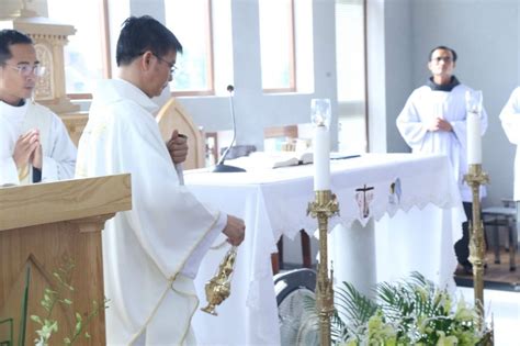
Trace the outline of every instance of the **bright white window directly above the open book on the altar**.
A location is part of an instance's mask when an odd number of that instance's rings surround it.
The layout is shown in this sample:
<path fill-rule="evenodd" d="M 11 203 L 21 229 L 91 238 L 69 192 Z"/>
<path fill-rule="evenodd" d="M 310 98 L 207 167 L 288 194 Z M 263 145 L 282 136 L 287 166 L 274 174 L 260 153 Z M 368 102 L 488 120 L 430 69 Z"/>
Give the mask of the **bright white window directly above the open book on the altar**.
<path fill-rule="evenodd" d="M 293 0 L 259 0 L 262 88 L 295 90 Z"/>

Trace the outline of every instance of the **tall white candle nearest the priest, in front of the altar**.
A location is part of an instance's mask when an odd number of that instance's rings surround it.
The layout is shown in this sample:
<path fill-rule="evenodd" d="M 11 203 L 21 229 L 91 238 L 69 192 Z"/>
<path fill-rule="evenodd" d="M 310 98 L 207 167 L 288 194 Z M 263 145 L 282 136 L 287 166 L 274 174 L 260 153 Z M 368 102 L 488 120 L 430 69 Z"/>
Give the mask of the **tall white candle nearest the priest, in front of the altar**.
<path fill-rule="evenodd" d="M 314 190 L 330 190 L 330 136 L 324 125 L 314 132 Z"/>

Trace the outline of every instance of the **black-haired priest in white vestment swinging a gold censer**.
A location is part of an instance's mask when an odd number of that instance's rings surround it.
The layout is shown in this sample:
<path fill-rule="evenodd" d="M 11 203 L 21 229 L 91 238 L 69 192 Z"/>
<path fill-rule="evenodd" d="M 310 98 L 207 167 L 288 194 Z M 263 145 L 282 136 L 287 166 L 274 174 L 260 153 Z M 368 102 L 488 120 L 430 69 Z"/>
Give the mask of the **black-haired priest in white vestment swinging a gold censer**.
<path fill-rule="evenodd" d="M 242 220 L 201 204 L 179 183 L 173 164 L 185 141 L 174 132 L 167 146 L 152 115 L 150 98 L 171 80 L 178 52 L 158 21 L 127 19 L 117 41 L 120 79 L 97 86 L 79 143 L 78 177 L 132 174 L 132 211 L 102 233 L 109 345 L 195 344 L 192 279 L 202 257 L 221 232 L 233 245 L 245 236 Z"/>

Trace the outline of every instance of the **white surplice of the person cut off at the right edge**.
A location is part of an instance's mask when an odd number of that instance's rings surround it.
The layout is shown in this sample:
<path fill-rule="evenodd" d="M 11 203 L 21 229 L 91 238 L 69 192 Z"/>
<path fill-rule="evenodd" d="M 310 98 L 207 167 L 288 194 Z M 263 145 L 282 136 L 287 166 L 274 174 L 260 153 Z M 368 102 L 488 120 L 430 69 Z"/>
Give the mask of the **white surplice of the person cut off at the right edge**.
<path fill-rule="evenodd" d="M 513 199 L 520 201 L 520 152 L 518 149 L 520 144 L 520 87 L 511 92 L 509 100 L 500 112 L 500 121 L 507 138 L 517 146 Z"/>

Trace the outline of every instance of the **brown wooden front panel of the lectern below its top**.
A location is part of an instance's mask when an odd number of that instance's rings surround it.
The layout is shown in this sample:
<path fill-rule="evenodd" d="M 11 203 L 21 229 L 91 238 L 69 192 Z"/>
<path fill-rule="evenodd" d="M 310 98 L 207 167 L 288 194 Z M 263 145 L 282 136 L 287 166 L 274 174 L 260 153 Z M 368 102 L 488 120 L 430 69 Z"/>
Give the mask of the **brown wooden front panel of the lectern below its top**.
<path fill-rule="evenodd" d="M 88 219 L 87 219 L 88 220 Z M 0 320 L 15 319 L 15 344 L 18 343 L 18 328 L 21 315 L 23 287 L 25 284 L 25 270 L 31 268 L 29 289 L 29 312 L 45 316 L 41 306 L 45 288 L 61 292 L 70 298 L 72 304 L 68 308 L 56 306 L 53 317 L 58 320 L 59 330 L 53 336 L 50 345 L 63 345 L 65 336 L 74 334 L 74 313 L 78 312 L 83 317 L 92 311 L 92 301 L 103 303 L 103 269 L 101 252 L 101 227 L 104 217 L 92 217 L 89 223 L 97 223 L 98 232 L 80 232 L 79 224 L 60 222 L 14 228 L 0 232 Z M 71 260 L 75 268 L 71 271 L 71 286 L 74 291 L 65 290 L 57 283 L 53 271 Z M 25 342 L 33 343 L 36 337 L 35 330 L 38 325 L 27 320 Z M 104 345 L 104 311 L 101 310 L 88 327 L 92 336 L 90 341 L 81 339 L 78 345 Z"/>

